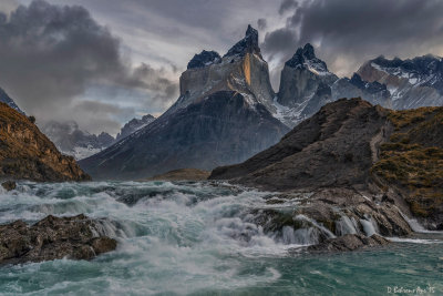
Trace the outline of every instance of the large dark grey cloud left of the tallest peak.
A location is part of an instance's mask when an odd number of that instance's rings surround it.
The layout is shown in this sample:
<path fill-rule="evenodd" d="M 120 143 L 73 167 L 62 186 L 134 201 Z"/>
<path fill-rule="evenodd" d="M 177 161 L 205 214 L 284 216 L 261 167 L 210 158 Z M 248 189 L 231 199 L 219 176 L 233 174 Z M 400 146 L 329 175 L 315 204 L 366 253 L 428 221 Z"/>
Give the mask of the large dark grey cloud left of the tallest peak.
<path fill-rule="evenodd" d="M 71 120 L 70 108 L 91 85 L 115 92 L 136 88 L 146 95 L 143 103 L 159 108 L 175 99 L 171 96 L 176 82 L 165 78 L 162 69 L 147 64 L 133 69 L 121 41 L 83 7 L 35 0 L 10 16 L 0 13 L 0 85 L 38 119 Z M 75 114 L 81 125 L 82 119 L 96 119 L 91 109 L 83 112 Z M 116 124 L 111 125 L 103 127 L 115 132 Z"/>

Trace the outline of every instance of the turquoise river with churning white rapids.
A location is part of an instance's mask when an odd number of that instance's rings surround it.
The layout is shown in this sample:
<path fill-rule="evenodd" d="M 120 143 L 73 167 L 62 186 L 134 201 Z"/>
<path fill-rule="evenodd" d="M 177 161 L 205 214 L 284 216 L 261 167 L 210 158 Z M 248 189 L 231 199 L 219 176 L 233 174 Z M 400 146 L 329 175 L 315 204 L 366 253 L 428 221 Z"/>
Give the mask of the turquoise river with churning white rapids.
<path fill-rule="evenodd" d="M 308 254 L 309 234 L 254 223 L 257 210 L 297 206 L 274 195 L 225 183 L 19 183 L 0 191 L 1 224 L 84 213 L 119 246 L 90 262 L 1 266 L 0 295 L 443 295 L 441 233 Z"/>

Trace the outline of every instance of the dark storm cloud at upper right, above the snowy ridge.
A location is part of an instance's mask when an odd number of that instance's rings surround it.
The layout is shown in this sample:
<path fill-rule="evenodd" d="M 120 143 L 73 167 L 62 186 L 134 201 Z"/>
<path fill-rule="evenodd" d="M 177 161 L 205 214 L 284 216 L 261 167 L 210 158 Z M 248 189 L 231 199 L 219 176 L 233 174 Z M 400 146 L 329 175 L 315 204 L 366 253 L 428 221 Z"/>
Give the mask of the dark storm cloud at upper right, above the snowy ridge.
<path fill-rule="evenodd" d="M 443 53 L 443 2 L 439 0 L 285 0 L 286 25 L 268 32 L 270 57 L 289 59 L 297 47 L 317 45 L 339 74 L 350 74 L 368 59 Z"/>

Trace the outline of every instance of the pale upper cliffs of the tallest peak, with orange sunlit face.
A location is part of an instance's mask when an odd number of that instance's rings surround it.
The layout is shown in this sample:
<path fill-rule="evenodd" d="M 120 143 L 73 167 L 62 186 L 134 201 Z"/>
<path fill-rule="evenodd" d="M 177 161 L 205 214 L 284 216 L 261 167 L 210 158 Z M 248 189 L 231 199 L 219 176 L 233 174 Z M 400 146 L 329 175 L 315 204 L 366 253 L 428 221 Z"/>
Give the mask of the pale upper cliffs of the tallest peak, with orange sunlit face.
<path fill-rule="evenodd" d="M 249 105 L 260 103 L 272 110 L 274 91 L 267 62 L 258 47 L 258 32 L 250 25 L 245 38 L 222 58 L 214 51 L 202 51 L 189 61 L 179 79 L 181 95 L 166 111 L 171 114 L 192 103 L 198 103 L 218 91 L 236 91 Z"/>

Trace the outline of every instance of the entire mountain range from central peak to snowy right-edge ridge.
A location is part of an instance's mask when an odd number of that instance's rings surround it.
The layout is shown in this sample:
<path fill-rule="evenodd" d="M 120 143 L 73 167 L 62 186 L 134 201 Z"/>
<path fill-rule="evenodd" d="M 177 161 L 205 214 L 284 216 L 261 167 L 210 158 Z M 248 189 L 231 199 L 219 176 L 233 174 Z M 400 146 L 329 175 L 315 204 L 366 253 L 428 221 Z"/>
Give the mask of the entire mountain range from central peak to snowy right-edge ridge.
<path fill-rule="evenodd" d="M 137 178 L 245 161 L 276 144 L 299 122 L 341 98 L 404 109 L 442 105 L 442 59 L 382 57 L 338 78 L 307 43 L 285 63 L 278 93 L 269 82 L 258 32 L 225 55 L 202 51 L 179 80 L 178 100 L 154 123 L 80 162 L 97 178 Z"/>

